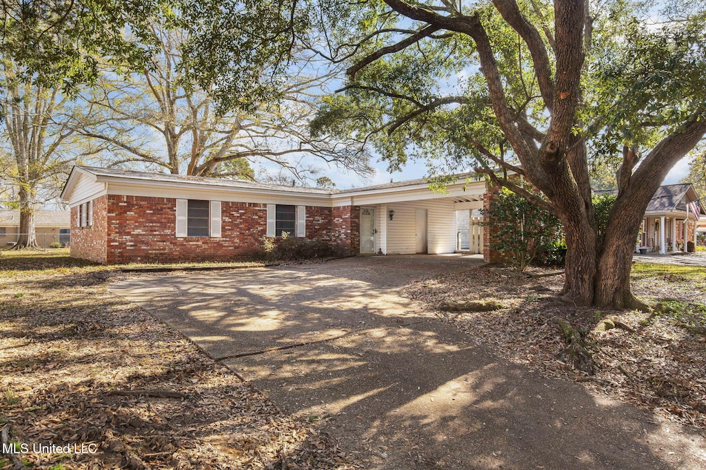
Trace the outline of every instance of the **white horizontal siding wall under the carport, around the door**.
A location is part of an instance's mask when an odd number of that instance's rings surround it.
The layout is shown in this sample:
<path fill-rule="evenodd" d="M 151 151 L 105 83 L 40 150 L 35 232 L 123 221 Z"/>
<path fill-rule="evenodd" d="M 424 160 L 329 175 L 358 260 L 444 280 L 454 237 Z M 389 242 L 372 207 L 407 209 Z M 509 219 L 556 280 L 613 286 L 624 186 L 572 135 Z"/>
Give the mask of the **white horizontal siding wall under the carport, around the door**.
<path fill-rule="evenodd" d="M 393 220 L 388 212 L 395 211 Z M 453 253 L 456 249 L 456 211 L 453 199 L 395 202 L 378 206 L 384 227 L 378 217 L 378 235 L 386 254 L 414 254 L 416 251 L 416 209 L 426 209 L 426 234 L 429 254 Z M 381 230 L 382 229 L 382 230 Z M 383 242 L 386 240 L 386 243 Z M 386 245 L 383 247 L 383 244 Z M 385 249 L 386 248 L 386 249 Z"/>

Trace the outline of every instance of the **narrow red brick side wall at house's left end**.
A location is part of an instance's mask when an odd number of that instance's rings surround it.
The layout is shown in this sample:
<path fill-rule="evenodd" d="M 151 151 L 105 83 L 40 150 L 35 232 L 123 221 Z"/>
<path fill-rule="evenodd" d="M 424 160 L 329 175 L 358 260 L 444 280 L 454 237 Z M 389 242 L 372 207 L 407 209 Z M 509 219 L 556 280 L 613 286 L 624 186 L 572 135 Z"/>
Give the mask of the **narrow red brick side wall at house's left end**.
<path fill-rule="evenodd" d="M 107 262 L 107 196 L 93 199 L 92 225 L 79 227 L 78 206 L 71 208 L 71 256 Z"/>

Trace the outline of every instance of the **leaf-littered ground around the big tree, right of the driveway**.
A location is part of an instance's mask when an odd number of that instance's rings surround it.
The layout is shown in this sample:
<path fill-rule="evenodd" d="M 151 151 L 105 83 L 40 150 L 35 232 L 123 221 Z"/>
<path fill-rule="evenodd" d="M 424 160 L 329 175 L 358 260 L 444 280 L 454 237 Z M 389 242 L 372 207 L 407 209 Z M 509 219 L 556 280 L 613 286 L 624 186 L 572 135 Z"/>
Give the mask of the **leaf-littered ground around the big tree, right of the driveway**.
<path fill-rule="evenodd" d="M 541 270 L 539 270 L 541 271 Z M 635 264 L 633 291 L 660 314 L 600 311 L 558 302 L 562 276 L 520 278 L 490 266 L 437 276 L 402 289 L 501 356 L 547 376 L 585 382 L 618 400 L 706 430 L 706 268 Z M 442 311 L 444 302 L 496 300 L 505 308 L 479 313 Z M 564 344 L 554 317 L 587 335 L 596 370 L 577 371 L 561 361 Z M 594 327 L 617 316 L 632 331 Z"/>

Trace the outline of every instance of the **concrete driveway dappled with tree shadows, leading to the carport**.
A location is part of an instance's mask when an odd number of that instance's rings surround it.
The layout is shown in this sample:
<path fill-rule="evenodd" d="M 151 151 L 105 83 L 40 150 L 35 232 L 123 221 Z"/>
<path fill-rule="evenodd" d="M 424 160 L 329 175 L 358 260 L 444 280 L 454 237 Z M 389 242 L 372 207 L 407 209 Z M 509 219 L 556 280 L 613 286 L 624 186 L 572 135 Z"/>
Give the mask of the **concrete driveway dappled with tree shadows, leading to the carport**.
<path fill-rule="evenodd" d="M 396 294 L 462 256 L 133 278 L 109 289 L 380 469 L 702 469 L 706 440 L 532 373 Z M 473 276 L 469 271 L 469 276 Z"/>

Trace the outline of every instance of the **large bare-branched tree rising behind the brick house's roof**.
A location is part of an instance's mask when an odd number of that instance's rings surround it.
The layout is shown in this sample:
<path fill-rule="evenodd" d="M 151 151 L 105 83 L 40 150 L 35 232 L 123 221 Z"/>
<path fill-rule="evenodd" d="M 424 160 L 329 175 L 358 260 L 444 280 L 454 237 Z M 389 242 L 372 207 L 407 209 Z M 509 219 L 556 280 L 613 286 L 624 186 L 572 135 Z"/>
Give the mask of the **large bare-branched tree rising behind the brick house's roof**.
<path fill-rule="evenodd" d="M 160 23 L 150 26 L 159 45 L 150 66 L 123 77 L 108 74 L 82 94 L 95 112 L 77 123 L 77 132 L 101 142 L 106 163 L 234 178 L 254 178 L 249 163 L 263 162 L 300 180 L 313 179 L 316 163 L 369 173 L 359 142 L 309 134 L 332 75 L 299 69 L 282 80 L 276 100 L 218 109 L 215 85 L 194 82 L 184 67 L 181 49 L 189 32 Z"/>

